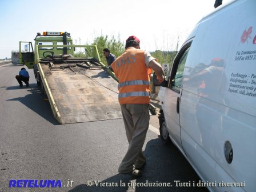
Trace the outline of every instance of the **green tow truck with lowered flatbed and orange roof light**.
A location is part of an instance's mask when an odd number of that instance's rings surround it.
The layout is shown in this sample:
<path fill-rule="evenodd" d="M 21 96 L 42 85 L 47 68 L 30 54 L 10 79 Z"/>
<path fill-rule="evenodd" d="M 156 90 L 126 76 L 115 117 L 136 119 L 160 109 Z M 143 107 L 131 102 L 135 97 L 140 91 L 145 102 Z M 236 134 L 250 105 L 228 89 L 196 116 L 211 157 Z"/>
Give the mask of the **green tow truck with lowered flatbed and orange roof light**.
<path fill-rule="evenodd" d="M 73 45 L 67 32 L 38 33 L 34 40 L 35 51 L 31 42 L 19 42 L 19 63 L 34 69 L 59 123 L 122 118 L 118 79 L 101 62 L 97 46 Z M 26 51 L 21 51 L 23 44 Z M 75 58 L 75 47 L 86 49 L 90 57 Z"/>

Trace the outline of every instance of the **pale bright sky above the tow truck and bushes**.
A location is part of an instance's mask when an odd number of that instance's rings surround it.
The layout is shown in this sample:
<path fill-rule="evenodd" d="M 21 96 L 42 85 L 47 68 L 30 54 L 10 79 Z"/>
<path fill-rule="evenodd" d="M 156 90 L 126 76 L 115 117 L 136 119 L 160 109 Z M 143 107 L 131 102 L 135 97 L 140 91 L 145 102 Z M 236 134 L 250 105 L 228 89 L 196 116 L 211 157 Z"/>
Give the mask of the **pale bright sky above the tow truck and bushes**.
<path fill-rule="evenodd" d="M 223 0 L 223 4 L 230 0 Z M 215 0 L 1 0 L 0 58 L 19 49 L 19 41 L 34 41 L 43 31 L 67 31 L 77 45 L 99 35 L 125 42 L 141 39 L 149 51 L 174 50 L 206 14 Z"/>

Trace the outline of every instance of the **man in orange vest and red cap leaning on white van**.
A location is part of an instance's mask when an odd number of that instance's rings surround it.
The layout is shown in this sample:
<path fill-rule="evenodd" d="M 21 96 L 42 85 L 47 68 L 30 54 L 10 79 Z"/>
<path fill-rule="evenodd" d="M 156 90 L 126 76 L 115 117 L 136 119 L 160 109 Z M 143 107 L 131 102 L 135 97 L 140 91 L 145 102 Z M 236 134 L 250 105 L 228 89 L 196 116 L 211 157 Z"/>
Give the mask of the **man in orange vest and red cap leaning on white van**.
<path fill-rule="evenodd" d="M 165 79 L 162 66 L 149 52 L 140 50 L 139 43 L 137 37 L 130 36 L 126 40 L 125 53 L 111 64 L 119 80 L 118 100 L 129 142 L 129 149 L 118 172 L 136 177 L 141 176 L 141 169 L 146 165 L 142 147 L 149 129 L 151 69 L 155 71 L 160 82 Z"/>

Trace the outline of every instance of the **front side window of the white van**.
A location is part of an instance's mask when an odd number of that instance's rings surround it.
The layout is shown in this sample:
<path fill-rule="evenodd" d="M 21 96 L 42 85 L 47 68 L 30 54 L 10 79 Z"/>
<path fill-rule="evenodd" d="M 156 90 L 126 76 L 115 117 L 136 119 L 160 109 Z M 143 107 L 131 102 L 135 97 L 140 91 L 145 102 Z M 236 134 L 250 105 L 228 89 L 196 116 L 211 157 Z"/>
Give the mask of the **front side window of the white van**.
<path fill-rule="evenodd" d="M 173 70 L 171 71 L 169 88 L 177 92 L 179 92 L 181 89 L 183 71 L 185 68 L 187 54 L 189 54 L 190 45 L 191 43 L 183 47 L 183 51 L 181 50 L 181 54 L 177 55 L 173 63 Z"/>

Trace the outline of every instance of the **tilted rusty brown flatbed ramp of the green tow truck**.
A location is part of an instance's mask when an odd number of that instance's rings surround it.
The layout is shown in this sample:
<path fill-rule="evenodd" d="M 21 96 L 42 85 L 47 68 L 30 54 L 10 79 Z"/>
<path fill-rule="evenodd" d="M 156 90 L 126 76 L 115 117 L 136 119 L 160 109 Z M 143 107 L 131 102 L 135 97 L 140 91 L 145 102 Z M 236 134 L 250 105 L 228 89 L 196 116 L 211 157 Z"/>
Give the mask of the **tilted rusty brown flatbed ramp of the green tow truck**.
<path fill-rule="evenodd" d="M 99 63 L 76 58 L 45 59 L 38 66 L 59 123 L 122 118 L 118 82 Z"/>

